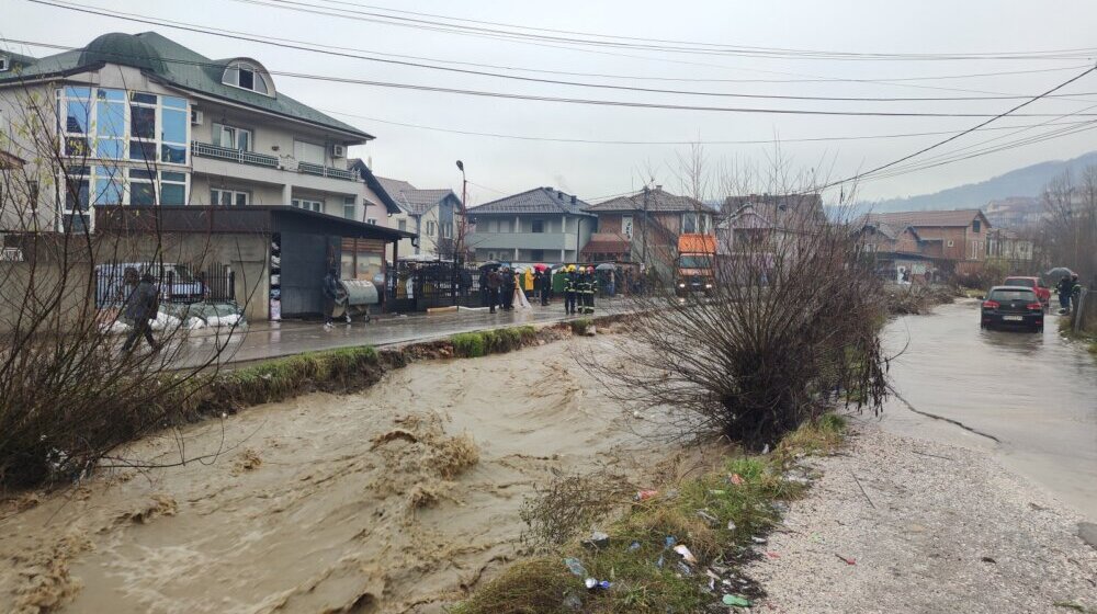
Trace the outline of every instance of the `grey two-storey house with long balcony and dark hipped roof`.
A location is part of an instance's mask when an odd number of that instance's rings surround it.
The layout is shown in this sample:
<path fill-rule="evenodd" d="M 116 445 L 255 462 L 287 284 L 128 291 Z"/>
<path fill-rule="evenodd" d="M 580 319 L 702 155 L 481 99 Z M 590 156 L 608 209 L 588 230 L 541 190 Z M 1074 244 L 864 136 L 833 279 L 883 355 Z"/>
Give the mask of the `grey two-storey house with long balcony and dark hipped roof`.
<path fill-rule="evenodd" d="M 597 223 L 587 203 L 553 187 L 534 187 L 468 209 L 468 249 L 485 262 L 576 262 Z"/>

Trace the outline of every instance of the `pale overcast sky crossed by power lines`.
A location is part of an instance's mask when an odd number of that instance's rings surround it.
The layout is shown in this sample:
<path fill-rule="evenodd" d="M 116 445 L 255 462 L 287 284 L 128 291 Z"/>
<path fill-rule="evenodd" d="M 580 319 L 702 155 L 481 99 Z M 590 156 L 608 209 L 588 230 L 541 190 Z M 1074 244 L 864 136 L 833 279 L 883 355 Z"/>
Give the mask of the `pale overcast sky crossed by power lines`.
<path fill-rule="evenodd" d="M 60 0 L 59 0 L 60 1 Z M 236 30 L 259 37 L 303 41 L 309 45 L 340 48 L 354 55 L 393 54 L 429 58 L 438 66 L 507 72 L 509 75 L 610 83 L 619 86 L 704 92 L 796 96 L 925 98 L 1034 95 L 1092 66 L 1097 49 L 1094 24 L 1097 2 L 1061 0 L 1054 3 L 1022 0 L 879 0 L 819 2 L 682 0 L 556 0 L 554 2 L 441 0 L 302 0 L 278 8 L 276 0 L 88 0 L 82 7 L 150 15 Z M 366 4 L 372 7 L 367 7 Z M 360 19 L 308 14 L 292 8 L 327 7 L 337 12 L 358 11 Z M 575 46 L 548 38 L 516 42 L 498 36 L 473 36 L 438 32 L 423 24 L 406 27 L 363 21 L 363 12 L 382 9 L 415 11 L 546 29 L 532 32 L 545 37 L 567 37 L 548 32 L 627 36 L 614 39 L 629 46 Z M 389 13 L 432 22 L 436 16 Z M 630 101 L 674 105 L 765 107 L 815 111 L 883 111 L 916 113 L 997 114 L 1022 102 L 977 101 L 817 101 L 720 98 L 637 91 L 610 91 L 562 84 L 522 82 L 498 77 L 462 75 L 394 66 L 358 58 L 332 57 L 287 49 L 199 32 L 150 26 L 116 18 L 95 16 L 34 4 L 27 0 L 0 0 L 0 36 L 68 46 L 83 46 L 105 32 L 157 30 L 165 36 L 211 58 L 251 56 L 269 70 L 323 75 L 359 80 L 460 88 L 540 96 Z M 372 18 L 371 18 L 372 19 Z M 411 24 L 411 22 L 404 22 Z M 501 26 L 450 22 L 471 27 Z M 585 38 L 590 38 L 585 36 Z M 666 45 L 652 39 L 711 43 L 724 46 L 812 49 L 856 54 L 994 54 L 1014 56 L 1061 49 L 1092 49 L 1058 54 L 1070 57 L 998 59 L 804 59 L 742 57 L 725 53 L 674 53 L 638 48 Z M 608 39 L 602 39 L 608 41 Z M 681 47 L 680 43 L 675 46 Z M 41 47 L 14 46 L 35 56 L 56 53 Z M 698 49 L 699 47 L 691 47 Z M 726 48 L 726 47 L 725 47 Z M 348 49 L 350 49 L 348 52 Z M 717 49 L 717 47 L 703 48 Z M 833 56 L 833 54 L 832 54 Z M 863 56 L 858 56 L 862 57 Z M 476 68 L 471 62 L 532 70 Z M 550 73 L 548 71 L 557 71 Z M 559 75 L 558 71 L 586 73 Z M 839 78 L 857 80 L 911 79 L 917 77 L 1029 71 L 1020 75 L 964 77 L 957 79 L 881 82 L 813 81 L 750 82 Z M 598 76 L 592 76 L 598 75 Z M 614 77 L 608 77 L 614 76 Z M 622 79 L 620 76 L 644 77 Z M 686 79 L 682 81 L 652 78 Z M 451 186 L 460 193 L 461 175 L 454 161 L 462 159 L 468 173 L 470 203 L 479 204 L 506 193 L 539 185 L 553 185 L 585 200 L 638 189 L 654 174 L 657 183 L 678 185 L 677 158 L 683 145 L 609 145 L 516 140 L 400 126 L 415 124 L 450 130 L 494 133 L 541 138 L 632 141 L 743 141 L 782 140 L 781 150 L 791 166 L 816 169 L 817 175 L 846 178 L 948 137 L 795 143 L 804 138 L 960 132 L 980 117 L 874 117 L 728 113 L 664 109 L 593 106 L 561 102 L 477 98 L 453 93 L 392 89 L 376 86 L 332 83 L 275 76 L 280 92 L 290 94 L 332 116 L 375 135 L 376 140 L 352 154 L 367 157 L 382 175 L 406 179 L 419 187 Z M 699 81 L 700 80 L 700 81 Z M 708 80 L 708 81 L 704 81 Z M 722 81 L 721 81 L 722 80 Z M 738 80 L 738 81 L 728 81 Z M 962 91 L 961 91 L 962 90 Z M 991 124 L 1010 126 L 1041 122 L 1082 122 L 1095 113 L 1097 72 L 1064 88 L 1060 94 L 1090 94 L 1044 99 L 1021 112 L 1044 117 L 1015 117 Z M 1092 101 L 1092 102 L 1087 102 Z M 1089 120 L 1097 117 L 1088 117 Z M 1060 127 L 1061 128 L 1061 127 Z M 980 132 L 943 146 L 925 157 L 977 145 L 1007 145 L 1017 139 L 1049 133 L 1048 126 Z M 981 181 L 1026 164 L 1071 158 L 1097 149 L 1097 132 L 1077 132 L 1025 147 L 1010 147 L 983 157 L 939 166 L 898 177 L 864 182 L 860 195 L 880 198 L 934 192 L 952 185 Z M 987 147 L 983 146 L 983 147 Z M 712 144 L 705 152 L 713 166 L 757 164 L 768 167 L 772 145 Z"/>

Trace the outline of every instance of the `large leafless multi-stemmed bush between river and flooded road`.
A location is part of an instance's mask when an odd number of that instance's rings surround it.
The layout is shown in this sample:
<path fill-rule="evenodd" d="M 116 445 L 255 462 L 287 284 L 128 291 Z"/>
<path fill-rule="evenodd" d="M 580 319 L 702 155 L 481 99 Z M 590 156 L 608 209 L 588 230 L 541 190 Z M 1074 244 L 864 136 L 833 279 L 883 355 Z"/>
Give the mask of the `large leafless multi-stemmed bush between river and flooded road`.
<path fill-rule="evenodd" d="M 753 183 L 705 177 L 700 148 L 681 162 L 697 202 L 711 198 L 706 185 Z M 812 173 L 790 169 L 762 175 L 770 194 L 757 205 L 725 207 L 711 287 L 651 288 L 625 333 L 608 338 L 618 351 L 581 357 L 620 399 L 670 408 L 679 434 L 769 442 L 836 401 L 881 407 L 878 278 L 850 228 L 824 214 Z"/>

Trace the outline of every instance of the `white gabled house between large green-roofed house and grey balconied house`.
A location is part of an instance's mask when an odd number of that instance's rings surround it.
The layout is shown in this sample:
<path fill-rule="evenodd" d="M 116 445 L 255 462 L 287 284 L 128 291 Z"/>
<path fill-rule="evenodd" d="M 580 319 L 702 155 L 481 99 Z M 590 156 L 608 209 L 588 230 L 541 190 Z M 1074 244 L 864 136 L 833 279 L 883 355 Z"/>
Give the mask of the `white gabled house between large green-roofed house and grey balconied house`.
<path fill-rule="evenodd" d="M 391 228 L 415 235 L 396 246 L 408 258 L 451 259 L 461 230 L 464 205 L 449 187 L 420 190 L 407 181 L 377 177 L 378 194 L 384 192 L 399 208 Z"/>

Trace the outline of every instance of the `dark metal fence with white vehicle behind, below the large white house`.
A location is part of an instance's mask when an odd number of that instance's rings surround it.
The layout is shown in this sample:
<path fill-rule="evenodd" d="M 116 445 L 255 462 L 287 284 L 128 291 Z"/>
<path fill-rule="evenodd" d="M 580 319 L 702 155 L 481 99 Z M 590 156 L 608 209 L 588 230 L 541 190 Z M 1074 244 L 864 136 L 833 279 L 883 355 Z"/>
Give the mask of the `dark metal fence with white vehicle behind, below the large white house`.
<path fill-rule="evenodd" d="M 106 263 L 95 266 L 95 307 L 121 307 L 144 273 L 150 273 L 160 289 L 160 302 L 192 304 L 236 299 L 236 274 L 227 265 L 193 272 L 182 264 Z"/>

